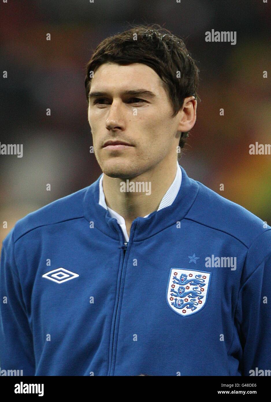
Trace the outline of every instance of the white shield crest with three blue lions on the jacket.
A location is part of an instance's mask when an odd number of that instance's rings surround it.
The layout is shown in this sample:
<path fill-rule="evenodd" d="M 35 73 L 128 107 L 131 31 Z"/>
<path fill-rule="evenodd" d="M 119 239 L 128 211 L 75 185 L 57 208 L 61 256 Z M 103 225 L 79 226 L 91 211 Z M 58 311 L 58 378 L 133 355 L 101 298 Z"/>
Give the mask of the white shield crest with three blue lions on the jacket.
<path fill-rule="evenodd" d="M 167 303 L 183 317 L 198 313 L 205 306 L 211 272 L 171 268 L 167 285 Z"/>

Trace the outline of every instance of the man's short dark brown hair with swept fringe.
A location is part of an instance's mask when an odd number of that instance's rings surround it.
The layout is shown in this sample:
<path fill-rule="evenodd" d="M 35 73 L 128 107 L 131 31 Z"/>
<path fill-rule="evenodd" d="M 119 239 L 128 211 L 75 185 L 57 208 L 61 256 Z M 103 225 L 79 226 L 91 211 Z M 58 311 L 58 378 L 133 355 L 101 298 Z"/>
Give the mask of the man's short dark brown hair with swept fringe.
<path fill-rule="evenodd" d="M 91 72 L 106 62 L 126 66 L 142 63 L 151 67 L 161 78 L 173 107 L 174 117 L 187 96 L 197 100 L 199 69 L 187 51 L 182 39 L 158 24 L 134 25 L 132 29 L 104 39 L 95 49 L 86 65 L 86 97 L 90 92 Z M 179 77 L 177 78 L 177 72 Z M 181 133 L 179 146 L 183 148 L 189 131 Z M 178 154 L 178 159 L 181 153 Z"/>

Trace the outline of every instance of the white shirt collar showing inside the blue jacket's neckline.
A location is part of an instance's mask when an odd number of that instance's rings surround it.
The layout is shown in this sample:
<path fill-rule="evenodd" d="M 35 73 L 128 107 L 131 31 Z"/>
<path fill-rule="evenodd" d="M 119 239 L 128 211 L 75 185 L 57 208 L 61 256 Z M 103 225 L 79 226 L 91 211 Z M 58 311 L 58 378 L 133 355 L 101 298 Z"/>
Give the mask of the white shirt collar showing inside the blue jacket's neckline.
<path fill-rule="evenodd" d="M 102 174 L 102 177 L 100 178 L 100 182 L 99 182 L 99 187 L 100 187 L 99 204 L 108 210 L 108 212 L 110 213 L 110 216 L 112 218 L 117 219 L 118 224 L 122 228 L 124 237 L 125 237 L 126 241 L 128 242 L 129 237 L 127 234 L 124 217 L 122 217 L 119 213 L 117 213 L 116 211 L 113 211 L 113 209 L 109 208 L 106 205 L 106 201 L 105 201 L 105 197 L 104 197 L 104 189 L 103 189 L 103 185 L 102 185 L 103 177 L 104 177 L 104 174 Z M 162 198 L 157 211 L 160 211 L 160 209 L 163 209 L 165 207 L 169 207 L 169 205 L 171 205 L 173 203 L 173 201 L 175 200 L 175 198 L 179 192 L 180 187 L 181 187 L 181 168 L 179 166 L 179 163 L 177 162 L 177 171 L 176 171 L 175 179 L 173 180 L 173 183 L 171 184 L 171 186 L 165 193 L 164 197 Z M 150 214 L 144 216 L 144 218 L 147 218 L 149 215 Z"/>

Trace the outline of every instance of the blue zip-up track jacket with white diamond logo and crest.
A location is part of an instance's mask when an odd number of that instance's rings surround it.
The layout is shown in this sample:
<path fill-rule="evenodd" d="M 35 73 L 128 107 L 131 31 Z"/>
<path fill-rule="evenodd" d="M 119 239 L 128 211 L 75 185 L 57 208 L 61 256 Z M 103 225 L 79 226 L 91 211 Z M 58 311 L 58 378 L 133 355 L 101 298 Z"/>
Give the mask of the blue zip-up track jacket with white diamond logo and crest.
<path fill-rule="evenodd" d="M 0 367 L 23 375 L 271 369 L 271 227 L 182 170 L 126 243 L 99 180 L 3 241 Z"/>

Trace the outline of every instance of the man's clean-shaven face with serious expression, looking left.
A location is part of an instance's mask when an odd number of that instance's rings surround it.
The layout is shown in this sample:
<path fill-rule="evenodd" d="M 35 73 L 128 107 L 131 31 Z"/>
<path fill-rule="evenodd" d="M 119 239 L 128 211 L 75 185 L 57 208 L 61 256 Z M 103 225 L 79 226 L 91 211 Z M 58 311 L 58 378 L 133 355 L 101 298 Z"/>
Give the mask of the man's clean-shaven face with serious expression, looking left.
<path fill-rule="evenodd" d="M 125 93 L 133 90 L 152 94 Z M 141 63 L 102 64 L 92 78 L 88 108 L 94 152 L 102 171 L 110 177 L 133 178 L 165 158 L 177 160 L 179 118 L 171 118 L 172 113 L 152 68 Z M 104 146 L 107 141 L 130 146 Z"/>

